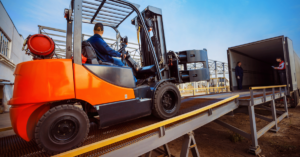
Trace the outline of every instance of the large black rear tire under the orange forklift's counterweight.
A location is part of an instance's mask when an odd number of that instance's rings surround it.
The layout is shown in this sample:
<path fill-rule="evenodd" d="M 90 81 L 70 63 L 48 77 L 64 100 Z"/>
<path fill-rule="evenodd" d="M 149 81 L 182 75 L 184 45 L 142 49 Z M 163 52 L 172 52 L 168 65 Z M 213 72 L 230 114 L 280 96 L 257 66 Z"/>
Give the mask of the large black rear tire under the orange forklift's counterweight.
<path fill-rule="evenodd" d="M 42 151 L 57 154 L 79 147 L 90 129 L 86 113 L 73 105 L 47 111 L 35 127 L 35 141 Z"/>

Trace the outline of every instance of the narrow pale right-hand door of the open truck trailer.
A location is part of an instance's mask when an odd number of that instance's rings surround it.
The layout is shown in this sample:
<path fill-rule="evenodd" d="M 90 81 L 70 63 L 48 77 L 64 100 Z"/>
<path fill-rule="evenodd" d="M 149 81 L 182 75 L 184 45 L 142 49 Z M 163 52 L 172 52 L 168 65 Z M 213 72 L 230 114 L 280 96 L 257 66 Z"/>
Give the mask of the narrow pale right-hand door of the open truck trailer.
<path fill-rule="evenodd" d="M 294 91 L 297 89 L 297 76 L 296 76 L 296 68 L 295 68 L 295 59 L 294 57 L 294 48 L 293 48 L 293 41 L 289 39 L 288 37 L 285 38 L 286 44 L 287 44 L 287 54 L 288 54 L 288 61 L 286 61 L 288 68 L 288 74 L 289 75 L 289 83 L 290 85 L 290 91 Z"/>

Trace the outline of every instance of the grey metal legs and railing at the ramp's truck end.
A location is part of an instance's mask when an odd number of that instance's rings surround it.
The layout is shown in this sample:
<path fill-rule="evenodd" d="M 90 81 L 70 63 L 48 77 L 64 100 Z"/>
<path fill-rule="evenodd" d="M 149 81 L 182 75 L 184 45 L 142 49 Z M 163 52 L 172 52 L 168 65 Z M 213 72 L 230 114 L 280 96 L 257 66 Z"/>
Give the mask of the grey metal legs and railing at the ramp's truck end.
<path fill-rule="evenodd" d="M 275 92 L 275 88 L 279 88 L 280 93 Z M 282 88 L 285 88 L 284 92 L 282 91 Z M 260 90 L 260 89 L 263 90 L 263 97 L 261 91 L 256 92 L 254 95 L 254 90 Z M 266 93 L 266 89 L 272 89 L 272 93 L 270 92 Z M 287 92 L 286 85 L 250 87 L 250 98 L 249 96 L 239 98 L 238 102 L 240 107 L 234 112 L 245 113 L 249 115 L 250 133 L 249 131 L 245 132 L 221 120 L 215 120 L 215 122 L 228 128 L 229 130 L 235 133 L 240 134 L 245 138 L 250 139 L 252 141 L 252 144 L 249 148 L 249 152 L 257 155 L 261 152 L 260 146 L 258 145 L 258 138 L 260 138 L 263 134 L 265 134 L 269 130 L 272 132 L 278 132 L 280 129 L 280 127 L 278 127 L 278 123 L 282 121 L 285 117 L 288 117 L 286 92 Z M 276 110 L 275 100 L 279 98 L 283 98 L 285 111 Z M 266 105 L 264 105 L 266 102 L 270 102 L 271 107 L 267 107 Z M 266 115 L 255 113 L 255 107 L 271 111 L 272 118 L 266 117 Z M 256 125 L 257 118 L 269 123 L 265 125 L 263 128 L 258 130 Z"/>

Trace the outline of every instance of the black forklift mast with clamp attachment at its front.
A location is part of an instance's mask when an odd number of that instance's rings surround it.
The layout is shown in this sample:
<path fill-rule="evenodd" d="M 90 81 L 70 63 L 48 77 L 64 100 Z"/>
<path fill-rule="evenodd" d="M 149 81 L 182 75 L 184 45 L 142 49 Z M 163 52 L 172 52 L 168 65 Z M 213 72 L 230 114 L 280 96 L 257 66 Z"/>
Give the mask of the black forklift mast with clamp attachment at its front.
<path fill-rule="evenodd" d="M 147 27 L 145 31 L 139 29 L 141 20 L 135 17 L 131 20 L 131 24 L 135 25 L 140 33 L 141 50 L 140 60 L 142 66 L 155 64 L 155 59 L 151 55 L 150 43 L 147 42 L 146 36 L 151 36 L 151 42 L 155 49 L 156 60 L 159 64 L 162 79 L 167 79 L 175 83 L 208 81 L 210 79 L 208 69 L 207 50 L 185 50 L 180 52 L 167 52 L 165 32 L 163 26 L 162 10 L 153 6 L 147 6 L 141 12 Z M 187 64 L 198 63 L 203 64 L 201 69 L 188 69 Z"/>

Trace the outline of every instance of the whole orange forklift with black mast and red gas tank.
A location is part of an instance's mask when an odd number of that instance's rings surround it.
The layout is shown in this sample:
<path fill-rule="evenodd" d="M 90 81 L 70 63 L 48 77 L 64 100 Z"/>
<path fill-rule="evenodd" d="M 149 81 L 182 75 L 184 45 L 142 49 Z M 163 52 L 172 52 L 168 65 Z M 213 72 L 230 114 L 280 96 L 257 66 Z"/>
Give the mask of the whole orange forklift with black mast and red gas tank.
<path fill-rule="evenodd" d="M 138 8 L 123 0 L 72 0 L 65 9 L 66 59 L 54 59 L 51 38 L 42 34 L 27 38 L 34 60 L 17 65 L 9 101 L 17 135 L 56 154 L 80 146 L 90 121 L 96 120 L 101 129 L 151 114 L 161 119 L 177 115 L 181 96 L 176 84 L 209 80 L 207 51 L 167 52 L 161 9 Z M 140 40 L 138 70 L 126 52 L 127 38 L 118 31 L 133 12 L 137 16 L 131 23 Z M 119 52 L 127 54 L 122 60 L 128 66 L 101 62 L 93 47 L 82 41 L 82 23 L 98 22 L 116 31 Z M 197 62 L 203 68 L 187 69 L 187 64 Z M 134 76 L 144 82 L 137 86 Z"/>

